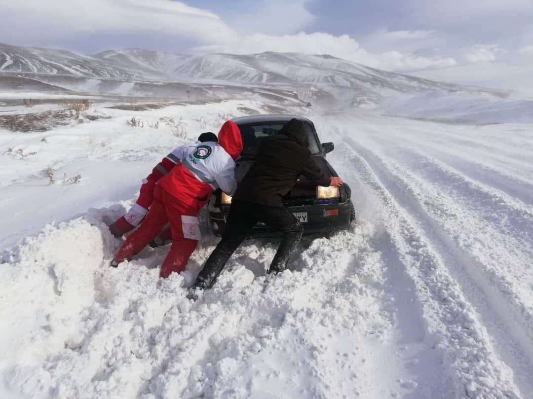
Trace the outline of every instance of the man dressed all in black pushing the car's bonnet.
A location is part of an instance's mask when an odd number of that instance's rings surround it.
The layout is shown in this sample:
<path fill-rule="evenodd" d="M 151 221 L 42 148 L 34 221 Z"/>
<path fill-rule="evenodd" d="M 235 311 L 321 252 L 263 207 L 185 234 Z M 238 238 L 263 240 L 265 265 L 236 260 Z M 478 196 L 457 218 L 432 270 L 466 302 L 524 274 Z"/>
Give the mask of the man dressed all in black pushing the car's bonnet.
<path fill-rule="evenodd" d="M 188 298 L 196 299 L 201 290 L 213 285 L 257 222 L 283 232 L 267 273 L 277 274 L 285 270 L 290 254 L 302 238 L 303 226 L 283 205 L 283 197 L 301 175 L 321 186 L 338 187 L 342 184 L 340 177 L 330 177 L 320 169 L 308 146 L 305 124 L 298 119 L 291 119 L 278 134 L 263 139 L 254 164 L 233 196 L 222 240 L 198 274 Z"/>

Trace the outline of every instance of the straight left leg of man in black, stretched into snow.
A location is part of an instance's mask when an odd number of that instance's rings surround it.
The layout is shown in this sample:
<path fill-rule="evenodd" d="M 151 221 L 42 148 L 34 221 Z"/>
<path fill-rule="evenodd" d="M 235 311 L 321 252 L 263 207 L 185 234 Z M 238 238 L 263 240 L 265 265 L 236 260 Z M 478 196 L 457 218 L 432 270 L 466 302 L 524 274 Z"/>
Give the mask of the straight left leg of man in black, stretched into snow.
<path fill-rule="evenodd" d="M 203 290 L 214 284 L 231 255 L 257 223 L 250 210 L 254 206 L 248 202 L 233 201 L 222 240 L 207 259 L 200 274 L 198 274 L 192 287 L 193 289 Z"/>

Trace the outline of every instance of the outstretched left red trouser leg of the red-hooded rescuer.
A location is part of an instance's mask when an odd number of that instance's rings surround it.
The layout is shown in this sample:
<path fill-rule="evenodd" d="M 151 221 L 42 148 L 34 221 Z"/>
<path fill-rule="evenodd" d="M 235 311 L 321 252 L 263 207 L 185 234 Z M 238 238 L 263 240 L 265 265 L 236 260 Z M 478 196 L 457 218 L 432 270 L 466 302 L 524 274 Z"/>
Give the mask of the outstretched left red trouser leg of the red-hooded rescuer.
<path fill-rule="evenodd" d="M 156 187 L 154 192 L 154 202 L 150 207 L 150 211 L 144 218 L 141 227 L 133 232 L 124 242 L 122 247 L 118 250 L 114 258 L 114 265 L 130 260 L 134 255 L 138 254 L 148 242 L 155 238 L 156 235 L 163 229 L 167 223 L 167 215 L 163 202 L 161 201 L 161 188 Z"/>

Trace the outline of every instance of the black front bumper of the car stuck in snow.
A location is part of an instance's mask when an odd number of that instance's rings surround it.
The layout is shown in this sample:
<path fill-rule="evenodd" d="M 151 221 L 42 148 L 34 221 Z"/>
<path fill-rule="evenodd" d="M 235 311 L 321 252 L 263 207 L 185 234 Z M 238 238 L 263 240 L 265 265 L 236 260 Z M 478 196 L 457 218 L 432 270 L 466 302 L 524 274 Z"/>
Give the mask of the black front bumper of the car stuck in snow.
<path fill-rule="evenodd" d="M 314 204 L 303 206 L 288 206 L 290 212 L 307 213 L 308 222 L 302 223 L 304 234 L 326 234 L 330 232 L 346 230 L 350 225 L 352 203 L 350 200 L 343 203 Z M 226 220 L 229 214 L 229 206 L 223 206 L 221 211 L 210 211 L 209 222 L 211 231 L 217 237 L 224 233 Z M 325 216 L 327 211 L 338 210 L 338 215 Z M 249 237 L 280 237 L 280 231 L 265 225 L 255 226 Z"/>

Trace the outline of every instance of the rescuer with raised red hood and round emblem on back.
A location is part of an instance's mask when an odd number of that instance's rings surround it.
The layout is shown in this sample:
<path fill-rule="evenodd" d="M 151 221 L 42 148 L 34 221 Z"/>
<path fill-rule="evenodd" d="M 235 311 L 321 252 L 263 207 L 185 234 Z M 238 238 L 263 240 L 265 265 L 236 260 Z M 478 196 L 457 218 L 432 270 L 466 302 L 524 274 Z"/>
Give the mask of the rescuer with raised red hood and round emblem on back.
<path fill-rule="evenodd" d="M 170 223 L 172 246 L 159 275 L 166 278 L 172 272 L 184 271 L 200 239 L 200 209 L 214 190 L 220 188 L 231 196 L 237 189 L 235 161 L 241 151 L 243 141 L 239 127 L 231 121 L 220 129 L 218 143 L 195 143 L 184 148 L 180 162 L 155 184 L 148 214 L 139 229 L 120 247 L 111 266 L 117 267 L 124 260 L 130 260 Z"/>

